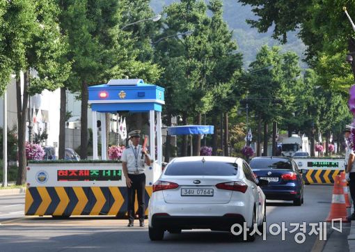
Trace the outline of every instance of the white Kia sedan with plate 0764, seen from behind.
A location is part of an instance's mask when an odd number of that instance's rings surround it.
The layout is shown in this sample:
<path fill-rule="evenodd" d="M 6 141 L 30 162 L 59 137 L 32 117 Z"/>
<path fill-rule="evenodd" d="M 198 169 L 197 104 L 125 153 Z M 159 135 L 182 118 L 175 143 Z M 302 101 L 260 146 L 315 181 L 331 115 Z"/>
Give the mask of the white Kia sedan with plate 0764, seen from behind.
<path fill-rule="evenodd" d="M 178 157 L 153 184 L 149 203 L 149 237 L 161 240 L 164 232 L 209 228 L 230 231 L 246 223 L 262 232 L 266 220 L 265 194 L 251 168 L 236 157 Z M 237 229 L 237 228 L 236 228 Z M 237 232 L 237 230 L 236 230 Z M 254 235 L 247 235 L 249 241 Z"/>

